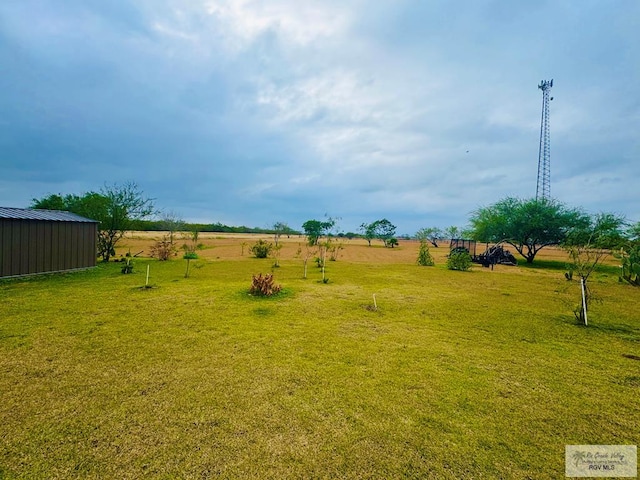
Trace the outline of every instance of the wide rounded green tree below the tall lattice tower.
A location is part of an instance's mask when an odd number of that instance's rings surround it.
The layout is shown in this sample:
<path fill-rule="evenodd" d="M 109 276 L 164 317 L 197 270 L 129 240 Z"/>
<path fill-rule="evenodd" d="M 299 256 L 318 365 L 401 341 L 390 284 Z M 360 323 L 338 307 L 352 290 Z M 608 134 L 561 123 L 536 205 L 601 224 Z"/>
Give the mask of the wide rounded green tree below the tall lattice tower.
<path fill-rule="evenodd" d="M 572 230 L 584 229 L 589 217 L 555 200 L 508 197 L 471 215 L 472 236 L 483 242 L 506 242 L 533 263 L 544 247 L 565 241 Z"/>

